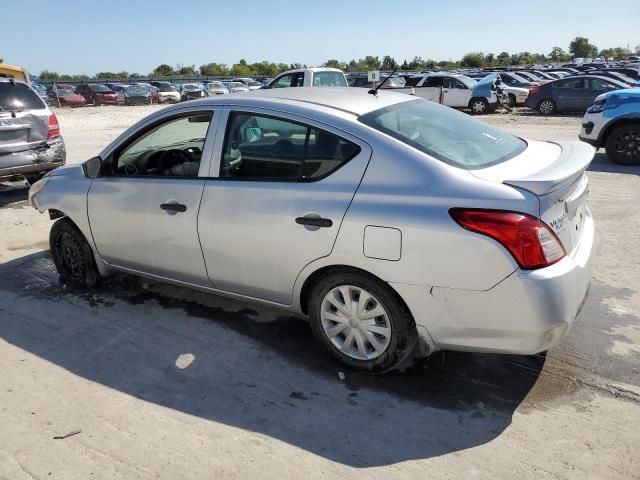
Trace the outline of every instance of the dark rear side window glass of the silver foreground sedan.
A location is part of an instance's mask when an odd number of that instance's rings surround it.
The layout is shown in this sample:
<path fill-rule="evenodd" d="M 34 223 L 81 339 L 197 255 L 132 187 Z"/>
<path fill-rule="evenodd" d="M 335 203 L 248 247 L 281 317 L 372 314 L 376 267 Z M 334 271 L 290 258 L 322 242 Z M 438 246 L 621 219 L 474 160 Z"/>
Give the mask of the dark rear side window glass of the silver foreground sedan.
<path fill-rule="evenodd" d="M 314 181 L 360 152 L 338 135 L 275 117 L 234 112 L 228 125 L 221 178 Z"/>

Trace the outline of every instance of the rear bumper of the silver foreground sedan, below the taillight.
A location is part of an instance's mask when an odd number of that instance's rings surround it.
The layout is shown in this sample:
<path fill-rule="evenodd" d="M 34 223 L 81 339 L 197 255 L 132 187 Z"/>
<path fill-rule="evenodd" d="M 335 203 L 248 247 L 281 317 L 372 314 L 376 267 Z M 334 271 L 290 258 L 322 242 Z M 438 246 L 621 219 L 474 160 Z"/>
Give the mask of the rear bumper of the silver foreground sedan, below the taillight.
<path fill-rule="evenodd" d="M 591 282 L 593 243 L 589 214 L 571 255 L 539 270 L 518 269 L 489 290 L 392 286 L 438 349 L 534 354 L 555 346 L 578 315 Z"/>

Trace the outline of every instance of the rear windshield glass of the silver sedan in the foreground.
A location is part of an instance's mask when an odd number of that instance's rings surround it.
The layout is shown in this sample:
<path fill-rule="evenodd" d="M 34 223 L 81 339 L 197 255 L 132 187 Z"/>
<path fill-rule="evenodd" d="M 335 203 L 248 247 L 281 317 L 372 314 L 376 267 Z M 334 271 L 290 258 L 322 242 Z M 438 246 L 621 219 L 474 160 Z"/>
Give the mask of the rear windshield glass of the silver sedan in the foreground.
<path fill-rule="evenodd" d="M 518 137 L 426 100 L 375 110 L 359 120 L 438 160 L 467 170 L 504 162 L 527 146 Z"/>

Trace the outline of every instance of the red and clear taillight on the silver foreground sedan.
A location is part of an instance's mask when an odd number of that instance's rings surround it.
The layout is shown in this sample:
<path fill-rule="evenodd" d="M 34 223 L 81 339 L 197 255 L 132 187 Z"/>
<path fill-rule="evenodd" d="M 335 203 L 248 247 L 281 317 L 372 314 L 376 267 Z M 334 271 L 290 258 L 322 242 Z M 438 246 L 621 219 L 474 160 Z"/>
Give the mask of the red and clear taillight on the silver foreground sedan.
<path fill-rule="evenodd" d="M 500 242 L 520 268 L 548 267 L 566 255 L 556 234 L 539 219 L 526 213 L 473 208 L 452 208 L 449 213 L 467 230 Z"/>

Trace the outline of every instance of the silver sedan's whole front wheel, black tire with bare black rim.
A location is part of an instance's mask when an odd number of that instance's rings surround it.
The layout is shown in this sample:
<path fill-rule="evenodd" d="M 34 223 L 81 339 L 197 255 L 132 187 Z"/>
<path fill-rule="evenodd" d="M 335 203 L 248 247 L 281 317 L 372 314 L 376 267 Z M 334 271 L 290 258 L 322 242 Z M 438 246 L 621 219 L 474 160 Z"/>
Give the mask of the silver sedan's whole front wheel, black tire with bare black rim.
<path fill-rule="evenodd" d="M 61 218 L 52 225 L 49 247 L 63 288 L 83 291 L 99 283 L 93 250 L 71 220 Z"/>

